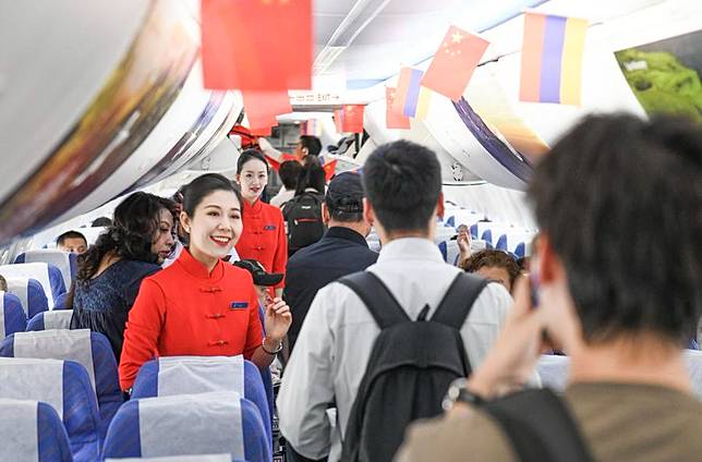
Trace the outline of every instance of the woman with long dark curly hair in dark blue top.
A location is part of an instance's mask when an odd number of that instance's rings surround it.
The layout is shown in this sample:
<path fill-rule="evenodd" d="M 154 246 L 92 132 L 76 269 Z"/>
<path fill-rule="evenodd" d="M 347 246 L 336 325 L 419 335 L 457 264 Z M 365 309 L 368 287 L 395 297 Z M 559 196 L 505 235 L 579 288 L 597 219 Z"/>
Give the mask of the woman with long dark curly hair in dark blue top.
<path fill-rule="evenodd" d="M 142 280 L 158 271 L 173 245 L 173 216 L 161 197 L 134 193 L 114 209 L 114 222 L 78 257 L 71 329 L 104 333 L 119 360 L 124 324 Z"/>

